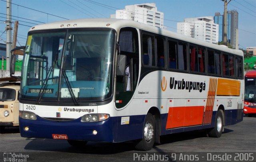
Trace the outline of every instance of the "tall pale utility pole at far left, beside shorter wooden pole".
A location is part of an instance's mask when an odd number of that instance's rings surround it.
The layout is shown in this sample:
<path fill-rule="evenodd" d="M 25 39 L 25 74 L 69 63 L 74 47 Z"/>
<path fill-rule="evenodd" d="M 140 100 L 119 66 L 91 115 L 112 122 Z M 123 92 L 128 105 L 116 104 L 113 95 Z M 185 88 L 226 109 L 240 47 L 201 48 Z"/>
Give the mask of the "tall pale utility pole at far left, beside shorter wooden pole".
<path fill-rule="evenodd" d="M 6 72 L 10 71 L 12 47 L 12 0 L 6 0 Z"/>

